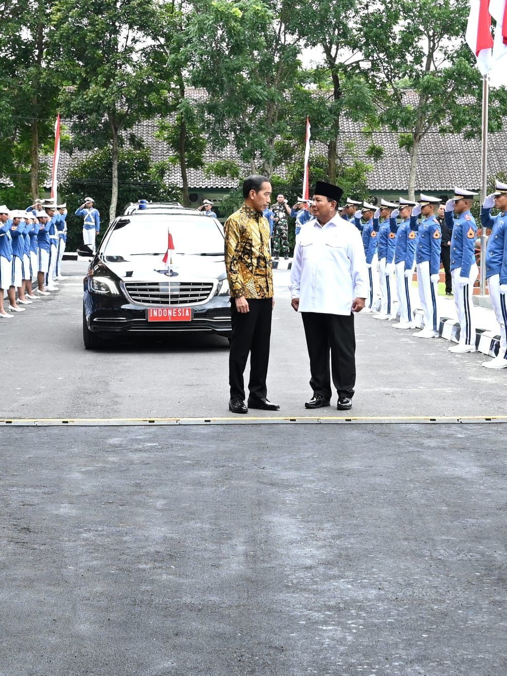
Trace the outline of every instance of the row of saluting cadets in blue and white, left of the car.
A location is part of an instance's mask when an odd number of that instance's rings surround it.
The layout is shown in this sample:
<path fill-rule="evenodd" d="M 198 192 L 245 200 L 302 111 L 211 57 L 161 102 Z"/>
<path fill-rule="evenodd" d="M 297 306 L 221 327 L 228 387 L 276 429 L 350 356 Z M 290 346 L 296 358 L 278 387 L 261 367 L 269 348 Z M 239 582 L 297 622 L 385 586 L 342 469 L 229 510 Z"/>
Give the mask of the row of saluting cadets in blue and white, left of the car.
<path fill-rule="evenodd" d="M 0 318 L 24 312 L 57 291 L 67 241 L 65 204 L 37 200 L 26 210 L 0 206 Z M 7 302 L 4 299 L 7 298 Z"/>

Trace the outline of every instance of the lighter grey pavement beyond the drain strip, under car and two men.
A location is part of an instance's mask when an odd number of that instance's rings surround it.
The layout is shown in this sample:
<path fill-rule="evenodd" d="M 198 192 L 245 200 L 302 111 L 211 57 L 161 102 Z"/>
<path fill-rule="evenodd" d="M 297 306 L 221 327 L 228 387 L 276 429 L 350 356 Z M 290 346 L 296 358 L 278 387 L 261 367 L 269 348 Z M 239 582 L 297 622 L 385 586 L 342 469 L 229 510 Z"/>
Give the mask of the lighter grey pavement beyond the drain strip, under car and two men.
<path fill-rule="evenodd" d="M 51 297 L 0 321 L 0 418 L 222 418 L 228 412 L 228 343 L 212 335 L 119 337 L 101 351 L 82 343 L 84 262 L 64 262 L 70 279 Z M 271 418 L 314 416 L 300 316 L 290 307 L 289 271 L 275 270 L 276 307 L 268 396 Z M 449 301 L 452 302 L 452 301 Z M 353 416 L 504 416 L 507 370 L 481 367 L 483 354 L 451 354 L 443 339 L 395 331 L 356 317 L 358 379 Z M 262 412 L 262 416 L 266 414 Z M 259 417 L 251 411 L 246 418 Z"/>

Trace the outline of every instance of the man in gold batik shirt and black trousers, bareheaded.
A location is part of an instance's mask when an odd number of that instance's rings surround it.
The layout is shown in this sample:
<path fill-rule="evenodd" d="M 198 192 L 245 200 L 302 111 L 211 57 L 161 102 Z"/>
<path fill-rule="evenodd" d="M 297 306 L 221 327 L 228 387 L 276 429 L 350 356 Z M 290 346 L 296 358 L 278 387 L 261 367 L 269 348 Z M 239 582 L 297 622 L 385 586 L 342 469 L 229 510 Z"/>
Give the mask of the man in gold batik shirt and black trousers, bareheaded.
<path fill-rule="evenodd" d="M 249 176 L 243 182 L 243 206 L 224 224 L 233 323 L 229 353 L 229 410 L 233 413 L 248 412 L 243 373 L 249 354 L 249 408 L 280 408 L 268 401 L 266 389 L 274 299 L 269 224 L 262 212 L 270 196 L 271 184 L 265 176 Z"/>

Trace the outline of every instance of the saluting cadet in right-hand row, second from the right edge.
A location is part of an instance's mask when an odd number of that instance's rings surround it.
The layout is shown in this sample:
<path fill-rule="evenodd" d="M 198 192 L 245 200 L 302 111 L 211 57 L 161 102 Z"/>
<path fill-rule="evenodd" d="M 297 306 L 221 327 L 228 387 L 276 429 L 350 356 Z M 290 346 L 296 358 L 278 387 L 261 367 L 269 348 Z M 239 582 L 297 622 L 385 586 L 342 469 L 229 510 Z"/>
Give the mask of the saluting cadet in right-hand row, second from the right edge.
<path fill-rule="evenodd" d="M 475 352 L 475 323 L 473 312 L 473 285 L 479 274 L 475 262 L 477 224 L 470 214 L 473 198 L 477 193 L 454 188 L 454 197 L 445 202 L 445 225 L 452 229 L 451 276 L 454 304 L 460 322 L 460 341 L 451 345 L 449 352 Z M 458 218 L 453 218 L 452 212 Z"/>

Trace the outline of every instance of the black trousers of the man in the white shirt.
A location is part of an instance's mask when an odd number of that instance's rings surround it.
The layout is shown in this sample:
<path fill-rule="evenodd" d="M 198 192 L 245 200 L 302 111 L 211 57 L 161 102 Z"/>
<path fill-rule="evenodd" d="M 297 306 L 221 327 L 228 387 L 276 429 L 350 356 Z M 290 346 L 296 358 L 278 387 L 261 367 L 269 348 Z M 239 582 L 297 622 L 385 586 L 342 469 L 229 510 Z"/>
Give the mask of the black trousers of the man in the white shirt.
<path fill-rule="evenodd" d="M 314 394 L 331 399 L 331 376 L 338 396 L 352 397 L 356 385 L 356 334 L 354 315 L 301 312 L 310 357 L 310 387 Z"/>

